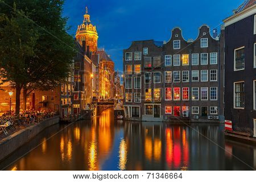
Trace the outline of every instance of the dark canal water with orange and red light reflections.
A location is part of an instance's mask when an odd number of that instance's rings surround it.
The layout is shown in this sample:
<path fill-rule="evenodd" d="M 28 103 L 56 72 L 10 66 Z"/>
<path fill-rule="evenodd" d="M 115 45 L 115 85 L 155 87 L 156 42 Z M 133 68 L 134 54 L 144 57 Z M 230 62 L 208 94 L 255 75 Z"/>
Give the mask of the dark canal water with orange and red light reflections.
<path fill-rule="evenodd" d="M 49 127 L 9 158 L 5 170 L 253 170 L 256 147 L 225 139 L 224 125 L 93 121 Z"/>

